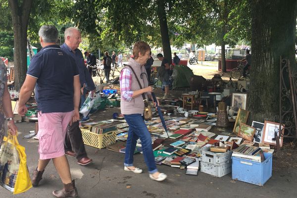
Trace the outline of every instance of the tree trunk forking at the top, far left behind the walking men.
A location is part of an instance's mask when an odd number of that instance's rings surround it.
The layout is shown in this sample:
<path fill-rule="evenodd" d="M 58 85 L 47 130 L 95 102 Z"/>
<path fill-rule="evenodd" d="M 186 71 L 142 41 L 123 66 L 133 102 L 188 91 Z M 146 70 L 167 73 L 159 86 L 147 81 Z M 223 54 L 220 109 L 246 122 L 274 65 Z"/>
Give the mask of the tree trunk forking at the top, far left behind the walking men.
<path fill-rule="evenodd" d="M 33 0 L 8 0 L 14 36 L 14 87 L 20 90 L 27 72 L 27 29 Z"/>

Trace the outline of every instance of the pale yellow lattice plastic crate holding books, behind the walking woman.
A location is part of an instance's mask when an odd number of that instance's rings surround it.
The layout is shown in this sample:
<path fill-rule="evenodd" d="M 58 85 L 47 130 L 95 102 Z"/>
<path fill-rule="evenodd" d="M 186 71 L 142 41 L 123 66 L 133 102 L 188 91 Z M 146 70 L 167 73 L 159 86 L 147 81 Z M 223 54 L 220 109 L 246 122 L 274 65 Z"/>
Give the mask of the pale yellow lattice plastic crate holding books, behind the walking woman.
<path fill-rule="evenodd" d="M 115 143 L 116 131 L 105 134 L 96 134 L 85 129 L 81 129 L 81 131 L 85 145 L 101 149 Z"/>

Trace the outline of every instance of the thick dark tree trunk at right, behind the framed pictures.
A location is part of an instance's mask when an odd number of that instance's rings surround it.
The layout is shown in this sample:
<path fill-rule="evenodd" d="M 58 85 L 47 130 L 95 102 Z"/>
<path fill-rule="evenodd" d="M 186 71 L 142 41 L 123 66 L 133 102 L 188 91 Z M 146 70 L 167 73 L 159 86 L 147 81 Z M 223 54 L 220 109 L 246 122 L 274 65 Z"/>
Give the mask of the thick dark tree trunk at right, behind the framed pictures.
<path fill-rule="evenodd" d="M 251 1 L 250 122 L 280 119 L 280 56 L 296 68 L 296 5 L 297 0 Z"/>

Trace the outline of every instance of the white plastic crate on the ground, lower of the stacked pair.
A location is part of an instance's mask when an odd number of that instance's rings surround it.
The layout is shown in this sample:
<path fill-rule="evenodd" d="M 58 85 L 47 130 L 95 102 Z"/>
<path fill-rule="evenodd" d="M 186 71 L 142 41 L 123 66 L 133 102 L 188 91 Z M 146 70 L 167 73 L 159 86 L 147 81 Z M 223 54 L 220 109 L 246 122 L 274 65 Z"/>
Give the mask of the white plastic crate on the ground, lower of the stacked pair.
<path fill-rule="evenodd" d="M 214 177 L 223 177 L 231 173 L 232 170 L 232 163 L 228 161 L 222 165 L 214 165 L 211 163 L 201 161 L 200 171 L 202 173 L 206 173 L 212 175 Z"/>

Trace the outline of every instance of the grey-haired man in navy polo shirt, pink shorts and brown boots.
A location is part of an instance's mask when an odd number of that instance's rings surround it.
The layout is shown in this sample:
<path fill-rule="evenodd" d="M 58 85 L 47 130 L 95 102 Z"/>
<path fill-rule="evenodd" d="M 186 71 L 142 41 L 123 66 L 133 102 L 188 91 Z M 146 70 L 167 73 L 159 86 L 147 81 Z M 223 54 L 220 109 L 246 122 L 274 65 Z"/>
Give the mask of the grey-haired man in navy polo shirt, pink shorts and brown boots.
<path fill-rule="evenodd" d="M 56 198 L 77 197 L 65 156 L 64 139 L 69 123 L 79 120 L 80 82 L 73 58 L 56 45 L 58 31 L 45 25 L 39 30 L 43 49 L 33 56 L 25 82 L 20 91 L 18 113 L 25 115 L 26 102 L 35 87 L 38 104 L 39 161 L 33 171 L 32 185 L 37 187 L 50 159 L 64 184 L 53 191 Z"/>

